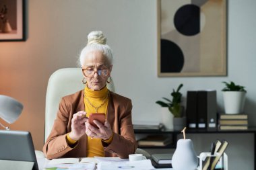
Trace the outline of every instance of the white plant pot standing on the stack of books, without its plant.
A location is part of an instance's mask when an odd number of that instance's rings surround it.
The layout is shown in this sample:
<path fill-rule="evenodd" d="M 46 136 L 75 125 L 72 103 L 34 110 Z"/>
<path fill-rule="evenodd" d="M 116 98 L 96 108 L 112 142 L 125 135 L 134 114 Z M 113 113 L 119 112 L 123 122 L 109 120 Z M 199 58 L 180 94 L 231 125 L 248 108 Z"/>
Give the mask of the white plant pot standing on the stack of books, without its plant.
<path fill-rule="evenodd" d="M 223 91 L 225 114 L 243 113 L 245 94 L 245 91 Z"/>

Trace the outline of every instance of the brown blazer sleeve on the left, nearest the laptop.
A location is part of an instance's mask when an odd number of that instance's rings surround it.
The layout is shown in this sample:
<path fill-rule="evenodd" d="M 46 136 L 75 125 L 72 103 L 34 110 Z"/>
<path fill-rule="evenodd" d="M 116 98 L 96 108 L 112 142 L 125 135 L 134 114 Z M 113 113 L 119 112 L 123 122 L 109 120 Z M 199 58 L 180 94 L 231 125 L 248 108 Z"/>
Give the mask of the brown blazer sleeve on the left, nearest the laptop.
<path fill-rule="evenodd" d="M 67 144 L 67 124 L 69 122 L 70 110 L 68 110 L 65 99 L 61 99 L 57 118 L 53 124 L 53 129 L 47 138 L 42 151 L 47 159 L 62 157 L 73 148 Z"/>

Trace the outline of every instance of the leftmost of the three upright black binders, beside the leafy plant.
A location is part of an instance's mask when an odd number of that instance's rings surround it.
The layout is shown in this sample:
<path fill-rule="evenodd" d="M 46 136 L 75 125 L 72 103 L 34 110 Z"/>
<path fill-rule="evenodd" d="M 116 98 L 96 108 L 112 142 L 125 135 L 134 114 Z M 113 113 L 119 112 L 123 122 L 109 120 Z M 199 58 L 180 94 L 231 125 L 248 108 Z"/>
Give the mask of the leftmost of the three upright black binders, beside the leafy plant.
<path fill-rule="evenodd" d="M 197 91 L 187 91 L 187 127 L 197 128 Z"/>

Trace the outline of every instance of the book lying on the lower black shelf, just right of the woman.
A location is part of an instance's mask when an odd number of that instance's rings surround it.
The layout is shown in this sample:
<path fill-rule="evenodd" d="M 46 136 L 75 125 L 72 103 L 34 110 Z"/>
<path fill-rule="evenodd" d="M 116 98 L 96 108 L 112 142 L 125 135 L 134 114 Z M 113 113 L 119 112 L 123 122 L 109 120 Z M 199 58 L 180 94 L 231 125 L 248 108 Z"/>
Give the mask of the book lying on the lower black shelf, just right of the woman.
<path fill-rule="evenodd" d="M 139 146 L 166 146 L 172 142 L 172 136 L 149 135 L 137 141 Z"/>

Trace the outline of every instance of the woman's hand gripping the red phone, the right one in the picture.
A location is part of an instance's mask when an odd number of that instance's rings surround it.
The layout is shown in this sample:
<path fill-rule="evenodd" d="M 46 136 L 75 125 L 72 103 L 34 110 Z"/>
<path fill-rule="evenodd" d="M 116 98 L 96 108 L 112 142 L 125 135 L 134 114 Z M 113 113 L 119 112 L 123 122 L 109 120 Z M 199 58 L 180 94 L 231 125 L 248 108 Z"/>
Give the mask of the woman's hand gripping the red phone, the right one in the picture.
<path fill-rule="evenodd" d="M 103 140 L 108 140 L 112 136 L 113 131 L 107 121 L 105 121 L 103 125 L 97 120 L 94 120 L 94 124 L 96 124 L 98 128 L 95 128 L 94 126 L 86 122 L 86 134 L 88 136 L 90 136 L 91 138 L 101 138 Z"/>

